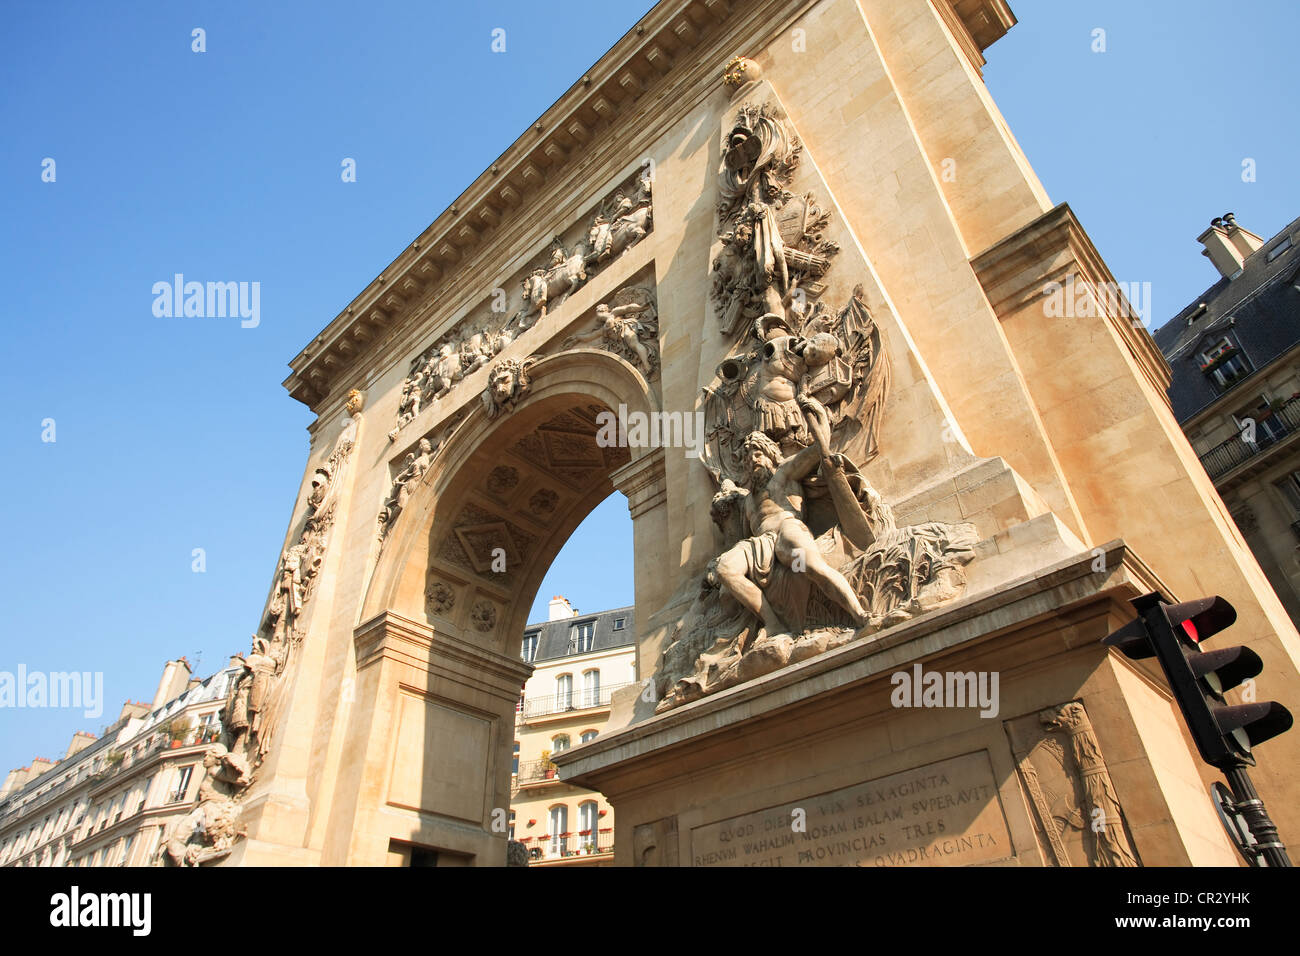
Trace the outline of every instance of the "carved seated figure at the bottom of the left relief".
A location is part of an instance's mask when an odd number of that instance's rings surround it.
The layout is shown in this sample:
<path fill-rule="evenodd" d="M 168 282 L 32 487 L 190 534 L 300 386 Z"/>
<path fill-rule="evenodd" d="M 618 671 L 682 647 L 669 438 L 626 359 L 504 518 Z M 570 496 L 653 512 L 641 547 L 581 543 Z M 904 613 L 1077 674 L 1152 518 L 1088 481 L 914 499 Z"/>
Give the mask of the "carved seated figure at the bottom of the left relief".
<path fill-rule="evenodd" d="M 202 866 L 230 856 L 234 842 L 244 835 L 238 823 L 238 795 L 248 786 L 248 767 L 224 744 L 203 754 L 204 778 L 199 803 L 172 825 L 159 848 L 165 866 Z"/>

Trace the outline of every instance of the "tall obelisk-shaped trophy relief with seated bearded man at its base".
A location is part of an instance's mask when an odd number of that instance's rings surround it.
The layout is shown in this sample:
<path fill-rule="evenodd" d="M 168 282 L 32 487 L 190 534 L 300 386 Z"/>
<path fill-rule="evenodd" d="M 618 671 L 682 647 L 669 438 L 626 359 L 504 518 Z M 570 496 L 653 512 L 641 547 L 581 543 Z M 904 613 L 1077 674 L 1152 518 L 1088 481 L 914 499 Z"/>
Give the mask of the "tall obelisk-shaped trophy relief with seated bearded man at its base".
<path fill-rule="evenodd" d="M 703 463 L 723 545 L 660 658 L 658 711 L 954 600 L 978 540 L 971 524 L 900 528 L 861 471 L 889 356 L 861 286 L 836 312 L 814 302 L 838 247 L 814 195 L 789 189 L 784 118 L 742 105 L 722 152 L 712 293 L 733 346 L 705 388 Z"/>

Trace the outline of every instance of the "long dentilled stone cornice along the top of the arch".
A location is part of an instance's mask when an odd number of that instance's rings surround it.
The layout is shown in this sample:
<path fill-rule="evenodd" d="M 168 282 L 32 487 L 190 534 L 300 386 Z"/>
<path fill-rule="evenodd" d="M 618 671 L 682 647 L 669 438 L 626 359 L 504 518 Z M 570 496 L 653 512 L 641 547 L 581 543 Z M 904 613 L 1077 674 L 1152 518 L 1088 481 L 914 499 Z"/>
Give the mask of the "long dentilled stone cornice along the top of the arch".
<path fill-rule="evenodd" d="M 988 22 L 1015 22 L 1001 0 L 939 1 L 953 4 L 984 46 L 996 39 Z M 417 341 L 434 341 L 488 291 L 458 290 L 455 277 L 499 274 L 502 269 L 486 268 L 493 260 L 523 265 L 569 225 L 556 220 L 560 203 L 546 198 L 558 200 L 577 181 L 612 186 L 636 166 L 629 156 L 641 156 L 682 111 L 722 88 L 732 53 L 767 47 L 815 5 L 656 5 L 290 362 L 292 373 L 283 382 L 290 395 L 322 418 L 334 416 L 347 389 L 364 389 L 367 375 L 373 378 Z M 1005 17 L 997 13 L 1004 9 Z"/>

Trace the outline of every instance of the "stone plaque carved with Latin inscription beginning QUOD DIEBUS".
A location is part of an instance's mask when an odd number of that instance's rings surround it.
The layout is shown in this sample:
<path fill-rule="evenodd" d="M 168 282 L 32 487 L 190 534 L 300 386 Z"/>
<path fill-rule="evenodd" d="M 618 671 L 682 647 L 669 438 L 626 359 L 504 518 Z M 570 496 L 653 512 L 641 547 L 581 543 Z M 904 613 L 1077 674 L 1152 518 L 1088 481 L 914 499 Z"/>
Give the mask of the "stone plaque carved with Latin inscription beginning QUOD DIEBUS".
<path fill-rule="evenodd" d="M 988 753 L 690 831 L 694 866 L 965 866 L 1011 856 Z"/>

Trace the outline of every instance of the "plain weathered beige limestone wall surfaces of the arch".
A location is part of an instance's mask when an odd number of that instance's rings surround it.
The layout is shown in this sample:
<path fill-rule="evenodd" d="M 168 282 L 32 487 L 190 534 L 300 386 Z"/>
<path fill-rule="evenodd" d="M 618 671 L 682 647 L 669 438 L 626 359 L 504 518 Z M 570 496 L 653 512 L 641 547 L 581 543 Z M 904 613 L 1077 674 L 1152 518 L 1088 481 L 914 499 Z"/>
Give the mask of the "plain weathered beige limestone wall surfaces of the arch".
<path fill-rule="evenodd" d="M 250 839 L 231 861 L 381 864 L 402 858 L 400 851 L 390 853 L 390 840 L 396 840 L 480 864 L 502 862 L 504 840 L 490 825 L 493 810 L 510 797 L 512 704 L 526 676 L 517 659 L 523 615 L 550 558 L 611 488 L 628 496 L 634 518 L 638 624 L 645 622 L 641 676 L 656 666 L 722 542 L 710 519 L 715 488 L 701 463 L 681 449 L 634 450 L 616 466 L 607 460 L 593 484 L 563 489 L 563 514 L 550 524 L 507 514 L 504 505 L 488 499 L 484 483 L 519 441 L 582 403 L 699 407 L 701 388 L 729 347 L 718 332 L 708 271 L 719 245 L 720 131 L 738 101 L 718 77 L 736 52 L 762 66 L 802 139 L 806 163 L 798 187 L 835 208 L 832 230 L 842 251 L 827 303 L 838 308 L 855 284 L 867 286 L 900 369 L 902 385 L 883 416 L 881 455 L 867 476 L 906 505 L 907 520 L 978 527 L 972 600 L 989 598 L 1009 580 L 1032 579 L 1067 554 L 1084 554 L 1087 564 L 1088 549 L 1112 538 L 1124 538 L 1154 572 L 1087 585 L 1105 606 L 1089 613 L 1087 628 L 1076 628 L 1069 615 L 1039 627 L 1041 663 L 1009 679 L 1004 713 L 1032 717 L 1036 708 L 1082 700 L 1143 861 L 1231 861 L 1204 788 L 1197 790 L 1197 775 L 1206 774 L 1179 743 L 1178 718 L 1164 691 L 1143 671 L 1106 657 L 1096 641 L 1105 627 L 1122 623 L 1117 601 L 1140 587 L 1164 583 L 1179 598 L 1217 591 L 1240 614 L 1232 636 L 1254 643 L 1271 669 L 1261 696 L 1295 701 L 1296 633 L 1173 423 L 1160 394 L 1162 363 L 1145 332 L 1105 317 L 1044 317 L 1035 287 L 1071 268 L 1105 277 L 1105 267 L 1069 211 L 1052 209 L 978 77 L 965 48 L 968 38 L 954 36 L 953 22 L 932 0 L 660 4 L 644 20 L 646 36 L 663 30 L 680 47 L 664 39 L 641 49 L 638 34 L 620 40 L 592 77 L 593 88 L 610 81 L 602 87 L 607 95 L 625 99 L 602 100 L 603 107 L 597 101 L 581 122 L 571 121 L 564 111 L 586 95 L 575 86 L 541 122 L 546 135 L 556 127 L 564 133 L 552 143 L 549 166 L 516 155 L 532 148 L 520 143 L 540 142 L 529 131 L 502 157 L 499 173 L 494 166 L 458 200 L 460 212 L 439 216 L 437 229 L 430 226 L 358 298 L 356 315 L 350 307 L 295 359 L 290 388 L 311 397 L 320 415 L 308 477 L 330 454 L 350 389 L 365 393 L 365 408 L 325 563 L 302 620 L 286 709 L 246 799 Z M 794 29 L 803 31 L 802 52 L 792 43 Z M 623 59 L 630 62 L 633 53 L 636 65 L 624 68 Z M 568 133 L 569 122 L 578 134 Z M 526 272 L 551 237 L 575 234 L 593 203 L 646 160 L 655 170 L 653 230 L 556 302 L 489 365 L 472 371 L 445 398 L 426 402 L 390 440 L 411 362 L 463 319 L 484 315 L 493 287 Z M 516 169 L 523 170 L 517 177 Z M 499 203 L 488 219 L 473 219 L 476 190 L 506 179 L 528 182 L 529 191 Z M 465 220 L 460 232 L 456 216 Z M 491 216 L 498 222 L 485 226 Z M 436 234 L 443 226 L 451 230 L 445 242 Z M 429 265 L 432 260 L 438 264 Z M 598 304 L 645 276 L 653 277 L 658 311 L 655 381 L 608 350 L 560 354 L 564 338 Z M 361 315 L 369 325 L 359 323 Z M 330 343 L 335 337 L 346 347 Z M 322 354 L 333 364 L 321 359 L 318 368 Z M 512 412 L 488 415 L 480 394 L 493 368 L 533 355 L 545 358 L 532 390 Z M 311 377 L 322 368 L 333 369 L 324 384 Z M 377 514 L 393 493 L 403 455 L 417 438 L 454 421 L 462 423 L 459 431 L 413 486 L 381 551 Z M 300 523 L 307 490 L 304 480 L 291 528 Z M 512 579 L 514 591 L 464 572 L 463 602 L 439 617 L 426 604 L 426 570 L 467 503 L 521 522 L 536 544 Z M 1196 555 L 1195 568 L 1187 555 Z M 468 619 L 472 596 L 490 597 L 498 610 L 486 632 Z M 1006 640 L 1010 624 L 991 615 L 984 620 L 988 640 L 953 652 L 956 663 L 1013 669 L 1018 645 Z M 936 648 L 942 649 L 931 643 L 914 650 Z M 870 657 L 862 645 L 844 650 L 853 653 L 841 654 L 841 662 Z M 911 659 L 896 657 L 900 666 Z M 633 848 L 647 839 L 636 827 L 650 821 L 680 814 L 681 830 L 672 832 L 686 834 L 719 814 L 987 750 L 1017 861 L 1046 860 L 1017 783 L 1010 731 L 963 722 L 968 715 L 900 717 L 881 702 L 879 682 L 853 704 L 861 710 L 855 723 L 837 727 L 826 719 L 828 708 L 853 695 L 832 683 L 811 688 L 828 696 L 810 701 L 798 717 L 750 726 L 740 710 L 727 711 L 738 722 L 731 740 L 749 748 L 734 760 L 762 754 L 768 784 L 741 761 L 729 765 L 734 774 L 701 770 L 676 790 L 645 788 L 645 775 L 664 760 L 638 749 L 638 735 L 653 736 L 641 724 L 625 731 L 627 739 L 615 734 L 598 747 L 576 748 L 566 762 L 578 761 L 581 773 L 604 783 L 601 790 L 618 806 L 620 862 L 630 862 Z M 771 689 L 763 684 L 746 693 L 760 698 L 764 688 Z M 699 713 L 714 710 L 725 708 Z M 763 741 L 755 736 L 760 724 L 768 735 Z M 807 743 L 814 730 L 822 736 Z M 772 740 L 783 735 L 798 743 L 775 754 Z M 1260 775 L 1283 835 L 1300 831 L 1279 775 L 1300 745 L 1300 735 L 1292 736 L 1297 743 L 1286 737 L 1269 745 Z M 705 744 L 690 760 L 705 761 L 718 745 Z M 810 774 L 818 779 L 810 782 Z M 619 787 L 644 790 L 620 803 Z M 662 842 L 689 853 L 689 842 L 680 840 L 664 835 Z"/>

